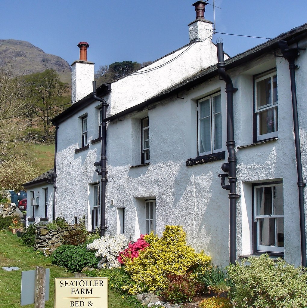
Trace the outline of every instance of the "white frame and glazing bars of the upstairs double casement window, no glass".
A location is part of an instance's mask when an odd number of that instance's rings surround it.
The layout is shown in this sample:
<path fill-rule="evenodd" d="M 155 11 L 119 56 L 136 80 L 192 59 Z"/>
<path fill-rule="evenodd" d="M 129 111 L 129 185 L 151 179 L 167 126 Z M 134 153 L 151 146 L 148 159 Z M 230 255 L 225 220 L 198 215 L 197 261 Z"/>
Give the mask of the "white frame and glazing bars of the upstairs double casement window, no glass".
<path fill-rule="evenodd" d="M 220 106 L 220 111 L 219 112 L 216 112 L 214 113 L 214 108 L 213 108 L 213 100 L 215 97 L 217 96 L 220 96 L 220 100 L 221 100 L 221 106 Z M 200 105 L 202 102 L 208 100 L 210 101 L 210 114 L 203 117 L 203 118 L 200 118 Z M 219 128 L 220 130 L 220 134 L 221 134 L 221 138 L 222 138 L 222 141 L 221 141 L 221 147 L 219 148 L 216 148 L 215 149 L 215 116 L 216 115 L 221 115 L 221 127 Z M 210 151 L 203 151 L 202 152 L 202 147 L 201 147 L 201 136 L 204 132 L 201 131 L 201 120 L 204 120 L 205 118 L 210 118 L 210 140 L 211 140 L 211 149 Z M 221 152 L 223 151 L 223 118 L 222 118 L 222 97 L 221 97 L 221 92 L 216 92 L 216 93 L 213 93 L 213 94 L 210 94 L 210 95 L 207 95 L 206 97 L 202 98 L 202 99 L 199 99 L 197 101 L 197 121 L 198 121 L 198 155 L 199 156 L 203 156 L 203 155 L 208 155 L 208 154 L 213 154 L 213 153 L 218 153 L 218 152 Z M 207 134 L 208 132 L 206 132 Z"/>

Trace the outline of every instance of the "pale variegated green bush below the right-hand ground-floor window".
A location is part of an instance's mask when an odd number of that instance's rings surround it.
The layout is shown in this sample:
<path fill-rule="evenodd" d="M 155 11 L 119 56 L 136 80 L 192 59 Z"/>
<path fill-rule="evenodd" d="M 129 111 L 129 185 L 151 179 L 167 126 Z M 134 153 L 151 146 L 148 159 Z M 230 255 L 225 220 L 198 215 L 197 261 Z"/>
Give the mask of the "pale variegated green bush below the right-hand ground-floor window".
<path fill-rule="evenodd" d="M 307 305 L 307 274 L 283 259 L 264 254 L 228 267 L 231 298 L 239 307 L 302 308 Z"/>

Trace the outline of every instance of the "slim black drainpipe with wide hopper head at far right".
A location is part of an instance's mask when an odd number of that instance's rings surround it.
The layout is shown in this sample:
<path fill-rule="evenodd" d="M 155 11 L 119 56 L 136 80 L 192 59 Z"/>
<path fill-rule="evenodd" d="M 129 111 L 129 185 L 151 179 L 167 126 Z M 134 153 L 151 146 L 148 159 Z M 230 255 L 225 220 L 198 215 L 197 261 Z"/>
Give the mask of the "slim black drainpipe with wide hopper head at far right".
<path fill-rule="evenodd" d="M 300 228 L 301 228 L 301 255 L 302 265 L 306 267 L 306 233 L 305 233 L 305 207 L 304 207 L 304 187 L 306 183 L 303 181 L 302 160 L 301 160 L 301 144 L 300 131 L 297 115 L 297 99 L 296 99 L 296 82 L 295 82 L 295 59 L 298 57 L 298 48 L 289 48 L 286 41 L 280 41 L 280 51 L 283 57 L 289 62 L 292 109 L 293 109 L 293 124 L 294 124 L 294 139 L 295 139 L 295 154 L 297 162 L 297 186 L 298 186 L 298 202 L 300 211 Z"/>

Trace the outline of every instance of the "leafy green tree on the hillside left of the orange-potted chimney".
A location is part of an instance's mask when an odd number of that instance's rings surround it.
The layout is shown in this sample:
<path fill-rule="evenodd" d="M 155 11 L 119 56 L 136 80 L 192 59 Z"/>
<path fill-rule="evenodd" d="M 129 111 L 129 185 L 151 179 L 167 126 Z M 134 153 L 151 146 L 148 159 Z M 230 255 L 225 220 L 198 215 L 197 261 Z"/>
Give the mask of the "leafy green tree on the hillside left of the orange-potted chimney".
<path fill-rule="evenodd" d="M 70 97 L 64 95 L 67 84 L 61 82 L 60 76 L 52 69 L 27 75 L 24 81 L 33 102 L 28 118 L 39 119 L 39 128 L 43 132 L 40 138 L 49 143 L 52 136 L 51 119 L 66 109 L 70 102 Z"/>

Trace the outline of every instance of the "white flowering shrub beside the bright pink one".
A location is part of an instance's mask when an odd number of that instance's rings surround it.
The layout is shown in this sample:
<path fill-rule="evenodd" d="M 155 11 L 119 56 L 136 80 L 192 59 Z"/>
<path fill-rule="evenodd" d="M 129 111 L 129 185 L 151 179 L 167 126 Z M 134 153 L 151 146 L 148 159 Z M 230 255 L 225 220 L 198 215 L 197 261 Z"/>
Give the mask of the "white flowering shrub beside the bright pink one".
<path fill-rule="evenodd" d="M 121 267 L 117 260 L 119 253 L 128 247 L 128 238 L 124 234 L 114 236 L 105 235 L 97 238 L 91 244 L 86 246 L 87 250 L 95 251 L 95 256 L 101 258 L 98 262 L 98 269 Z"/>

